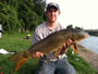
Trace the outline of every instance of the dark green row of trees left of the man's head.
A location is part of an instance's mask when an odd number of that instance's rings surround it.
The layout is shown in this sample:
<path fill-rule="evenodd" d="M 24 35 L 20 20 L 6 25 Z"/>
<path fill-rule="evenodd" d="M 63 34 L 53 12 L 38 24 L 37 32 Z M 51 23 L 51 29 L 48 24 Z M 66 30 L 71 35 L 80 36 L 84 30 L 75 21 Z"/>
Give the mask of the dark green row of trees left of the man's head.
<path fill-rule="evenodd" d="M 44 0 L 0 0 L 0 23 L 3 32 L 30 32 L 44 22 Z"/>

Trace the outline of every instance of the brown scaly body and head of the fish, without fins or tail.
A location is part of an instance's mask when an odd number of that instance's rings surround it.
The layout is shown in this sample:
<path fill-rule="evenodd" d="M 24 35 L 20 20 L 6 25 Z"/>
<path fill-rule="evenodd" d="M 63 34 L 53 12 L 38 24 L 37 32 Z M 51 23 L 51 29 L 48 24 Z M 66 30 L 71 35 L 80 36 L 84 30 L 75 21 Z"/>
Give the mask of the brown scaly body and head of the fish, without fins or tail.
<path fill-rule="evenodd" d="M 32 48 L 29 48 L 28 51 L 30 53 L 39 51 L 39 52 L 47 54 L 49 52 L 57 50 L 58 48 L 61 48 L 62 45 L 68 41 L 68 39 L 78 41 L 78 40 L 81 40 L 81 38 L 84 39 L 87 36 L 88 36 L 88 34 L 84 30 L 62 29 L 62 30 L 50 34 L 45 39 L 36 42 L 35 45 L 32 46 Z"/>

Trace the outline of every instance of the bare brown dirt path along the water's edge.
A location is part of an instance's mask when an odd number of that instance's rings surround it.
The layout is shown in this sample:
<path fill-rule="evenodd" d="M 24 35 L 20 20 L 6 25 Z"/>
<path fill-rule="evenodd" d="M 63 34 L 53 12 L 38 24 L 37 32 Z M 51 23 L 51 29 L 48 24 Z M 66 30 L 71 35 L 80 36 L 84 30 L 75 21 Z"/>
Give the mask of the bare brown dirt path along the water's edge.
<path fill-rule="evenodd" d="M 98 53 L 86 49 L 85 47 L 78 45 L 78 53 L 87 62 L 89 62 L 96 70 L 98 70 Z"/>

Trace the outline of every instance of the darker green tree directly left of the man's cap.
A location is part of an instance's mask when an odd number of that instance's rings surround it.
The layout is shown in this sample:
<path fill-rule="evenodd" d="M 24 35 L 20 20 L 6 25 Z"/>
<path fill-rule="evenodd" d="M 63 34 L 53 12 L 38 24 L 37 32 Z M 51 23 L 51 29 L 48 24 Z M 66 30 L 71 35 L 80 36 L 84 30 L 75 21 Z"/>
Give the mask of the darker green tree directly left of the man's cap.
<path fill-rule="evenodd" d="M 24 4 L 22 4 L 24 3 Z M 23 18 L 25 30 L 34 30 L 44 21 L 45 2 L 42 0 L 21 0 L 19 4 L 19 18 Z"/>

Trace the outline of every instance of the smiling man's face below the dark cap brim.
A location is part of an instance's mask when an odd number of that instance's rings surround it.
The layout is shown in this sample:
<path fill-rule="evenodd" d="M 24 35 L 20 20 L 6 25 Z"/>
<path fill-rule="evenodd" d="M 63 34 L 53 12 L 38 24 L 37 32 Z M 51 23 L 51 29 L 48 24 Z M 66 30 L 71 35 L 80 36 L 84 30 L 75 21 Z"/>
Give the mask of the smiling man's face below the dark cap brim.
<path fill-rule="evenodd" d="M 56 22 L 59 15 L 60 15 L 60 11 L 57 10 L 56 8 L 50 8 L 50 9 L 46 12 L 46 16 L 48 17 L 48 20 L 49 20 L 50 22 Z"/>

